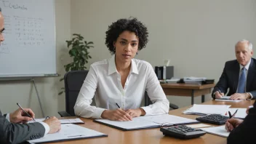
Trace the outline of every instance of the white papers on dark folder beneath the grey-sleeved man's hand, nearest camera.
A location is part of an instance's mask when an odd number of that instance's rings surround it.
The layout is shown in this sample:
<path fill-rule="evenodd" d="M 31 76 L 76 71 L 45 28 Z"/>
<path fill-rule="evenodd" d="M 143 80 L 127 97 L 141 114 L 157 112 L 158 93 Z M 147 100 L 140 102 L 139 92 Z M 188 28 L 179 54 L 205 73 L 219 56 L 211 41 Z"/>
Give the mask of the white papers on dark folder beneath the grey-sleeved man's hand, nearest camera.
<path fill-rule="evenodd" d="M 61 124 L 60 132 L 47 134 L 36 140 L 28 140 L 29 143 L 49 143 L 65 140 L 77 140 L 92 137 L 108 137 L 101 132 L 92 129 L 87 129 L 76 124 Z"/>

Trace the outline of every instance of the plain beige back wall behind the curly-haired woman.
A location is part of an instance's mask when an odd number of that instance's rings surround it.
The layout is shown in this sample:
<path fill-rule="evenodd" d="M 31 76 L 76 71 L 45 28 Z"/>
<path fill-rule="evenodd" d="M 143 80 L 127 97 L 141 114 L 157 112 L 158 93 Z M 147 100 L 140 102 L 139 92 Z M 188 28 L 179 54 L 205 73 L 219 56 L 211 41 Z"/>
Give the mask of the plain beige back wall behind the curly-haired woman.
<path fill-rule="evenodd" d="M 148 45 L 138 59 L 153 66 L 168 59 L 176 77 L 217 81 L 225 61 L 235 59 L 236 41 L 245 38 L 256 44 L 255 7 L 254 0 L 75 0 L 71 1 L 71 33 L 94 41 L 92 63 L 111 56 L 105 47 L 108 25 L 119 18 L 137 17 L 149 31 Z M 189 97 L 169 100 L 180 106 L 191 103 Z"/>

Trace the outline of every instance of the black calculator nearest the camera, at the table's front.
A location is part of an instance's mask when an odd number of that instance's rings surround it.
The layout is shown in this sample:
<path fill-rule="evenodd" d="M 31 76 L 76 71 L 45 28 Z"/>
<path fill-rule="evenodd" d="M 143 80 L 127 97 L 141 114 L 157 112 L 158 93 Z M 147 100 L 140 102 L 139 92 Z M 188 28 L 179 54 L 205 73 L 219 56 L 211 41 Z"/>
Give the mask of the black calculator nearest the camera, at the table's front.
<path fill-rule="evenodd" d="M 163 132 L 163 135 L 167 135 L 170 137 L 177 137 L 180 139 L 191 139 L 191 138 L 200 137 L 201 135 L 206 134 L 206 132 L 204 132 L 201 129 L 193 129 L 185 125 L 161 127 L 160 131 Z"/>

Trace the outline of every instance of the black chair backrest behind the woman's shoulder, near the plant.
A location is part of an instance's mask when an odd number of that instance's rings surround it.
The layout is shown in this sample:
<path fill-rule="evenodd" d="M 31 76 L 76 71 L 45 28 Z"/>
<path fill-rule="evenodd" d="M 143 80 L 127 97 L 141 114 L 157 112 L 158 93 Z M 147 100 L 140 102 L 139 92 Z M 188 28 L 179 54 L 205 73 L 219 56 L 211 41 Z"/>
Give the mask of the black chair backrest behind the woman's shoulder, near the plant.
<path fill-rule="evenodd" d="M 71 116 L 76 116 L 73 111 L 73 106 L 76 104 L 76 99 L 79 96 L 81 86 L 84 84 L 87 73 L 88 70 L 69 71 L 65 73 L 65 111 Z"/>

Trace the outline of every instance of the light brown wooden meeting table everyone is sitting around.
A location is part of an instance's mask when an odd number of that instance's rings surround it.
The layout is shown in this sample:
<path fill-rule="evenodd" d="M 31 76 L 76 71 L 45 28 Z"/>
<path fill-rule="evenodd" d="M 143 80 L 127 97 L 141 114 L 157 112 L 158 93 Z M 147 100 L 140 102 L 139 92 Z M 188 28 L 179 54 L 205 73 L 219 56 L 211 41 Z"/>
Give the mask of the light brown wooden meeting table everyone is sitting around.
<path fill-rule="evenodd" d="M 239 103 L 228 103 L 228 102 L 220 102 L 220 101 L 209 101 L 203 104 L 216 104 L 216 105 L 232 105 L 233 108 L 247 108 L 247 106 L 252 105 L 254 100 L 244 100 Z M 174 111 L 169 111 L 169 114 L 175 115 L 175 116 L 183 116 L 185 118 L 189 119 L 196 119 L 197 116 L 194 115 L 184 115 L 181 114 L 182 111 L 184 111 L 187 108 L 190 108 L 191 106 L 180 108 Z M 105 126 L 103 124 L 98 124 L 92 121 L 92 119 L 83 119 L 81 118 L 85 124 L 81 124 L 82 127 L 87 127 L 89 129 L 94 129 L 98 132 L 103 132 L 108 135 L 108 137 L 97 137 L 97 138 L 90 138 L 90 139 L 84 139 L 84 140 L 71 140 L 71 141 L 65 141 L 65 142 L 59 142 L 59 143 L 65 143 L 65 144 L 73 144 L 73 143 L 92 143 L 92 144 L 105 144 L 105 143 L 124 143 L 124 144 L 165 144 L 165 143 L 172 143 L 172 144 L 211 144 L 211 143 L 218 143 L 218 144 L 225 144 L 226 138 L 225 137 L 219 137 L 216 135 L 210 135 L 206 134 L 204 136 L 201 136 L 196 139 L 191 140 L 180 140 L 176 139 L 174 137 L 168 137 L 164 136 L 162 132 L 160 132 L 160 128 L 153 128 L 153 129 L 140 129 L 140 130 L 132 130 L 132 131 L 121 131 L 119 129 L 114 129 L 108 126 Z M 52 143 L 56 144 L 56 143 Z"/>

